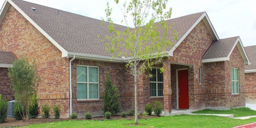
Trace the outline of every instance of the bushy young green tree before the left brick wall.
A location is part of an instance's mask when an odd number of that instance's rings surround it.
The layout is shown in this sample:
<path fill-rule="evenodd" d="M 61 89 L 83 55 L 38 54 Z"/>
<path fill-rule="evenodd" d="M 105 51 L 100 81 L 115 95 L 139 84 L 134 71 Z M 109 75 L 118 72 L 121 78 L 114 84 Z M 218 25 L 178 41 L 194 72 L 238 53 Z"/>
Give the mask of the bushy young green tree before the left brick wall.
<path fill-rule="evenodd" d="M 29 100 L 34 95 L 39 80 L 35 75 L 34 65 L 30 64 L 28 59 L 21 57 L 13 62 L 13 68 L 8 68 L 8 76 L 15 91 L 16 101 L 25 109 L 25 113 L 21 115 L 22 119 L 28 120 Z"/>

